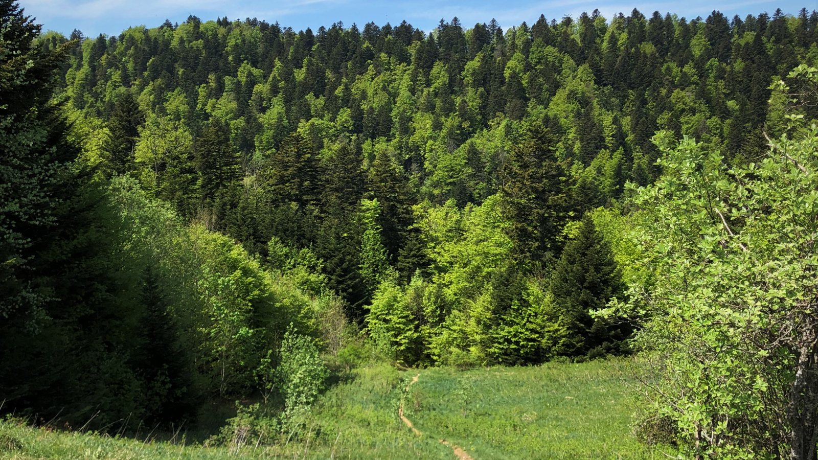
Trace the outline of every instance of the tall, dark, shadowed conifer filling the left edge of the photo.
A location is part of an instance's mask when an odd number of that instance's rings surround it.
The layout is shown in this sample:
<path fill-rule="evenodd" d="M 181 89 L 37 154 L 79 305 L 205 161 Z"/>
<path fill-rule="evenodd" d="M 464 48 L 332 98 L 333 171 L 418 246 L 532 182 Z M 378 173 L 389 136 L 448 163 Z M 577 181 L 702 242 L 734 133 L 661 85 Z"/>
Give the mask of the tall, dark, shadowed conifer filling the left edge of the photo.
<path fill-rule="evenodd" d="M 103 405 L 97 418 L 111 422 L 139 409 L 122 340 L 139 309 L 110 264 L 116 216 L 51 102 L 75 43 L 46 52 L 11 0 L 0 23 L 0 399 L 46 419 L 65 408 L 72 424 Z"/>

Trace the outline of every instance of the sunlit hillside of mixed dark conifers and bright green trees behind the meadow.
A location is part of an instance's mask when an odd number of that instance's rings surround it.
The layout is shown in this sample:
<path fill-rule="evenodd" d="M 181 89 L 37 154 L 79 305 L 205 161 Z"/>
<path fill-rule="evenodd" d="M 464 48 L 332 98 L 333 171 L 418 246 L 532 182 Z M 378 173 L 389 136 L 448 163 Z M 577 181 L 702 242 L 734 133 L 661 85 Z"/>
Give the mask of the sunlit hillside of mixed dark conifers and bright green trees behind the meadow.
<path fill-rule="evenodd" d="M 660 173 L 658 130 L 760 156 L 772 79 L 818 58 L 818 15 L 428 32 L 191 16 L 71 38 L 60 97 L 101 174 L 262 260 L 270 241 L 310 250 L 398 361 L 537 363 L 624 351 L 627 325 L 587 315 L 630 268 L 596 226 Z"/>

